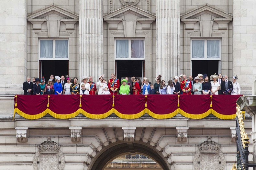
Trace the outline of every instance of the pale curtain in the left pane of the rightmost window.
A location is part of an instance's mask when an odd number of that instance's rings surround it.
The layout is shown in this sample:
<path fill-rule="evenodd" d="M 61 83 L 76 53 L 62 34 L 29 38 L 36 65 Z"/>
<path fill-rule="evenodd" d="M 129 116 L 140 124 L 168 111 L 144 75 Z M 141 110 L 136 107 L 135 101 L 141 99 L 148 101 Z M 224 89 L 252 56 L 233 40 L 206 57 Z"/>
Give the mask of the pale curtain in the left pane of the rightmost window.
<path fill-rule="evenodd" d="M 205 41 L 192 40 L 192 58 L 205 58 Z"/>

